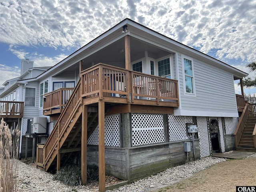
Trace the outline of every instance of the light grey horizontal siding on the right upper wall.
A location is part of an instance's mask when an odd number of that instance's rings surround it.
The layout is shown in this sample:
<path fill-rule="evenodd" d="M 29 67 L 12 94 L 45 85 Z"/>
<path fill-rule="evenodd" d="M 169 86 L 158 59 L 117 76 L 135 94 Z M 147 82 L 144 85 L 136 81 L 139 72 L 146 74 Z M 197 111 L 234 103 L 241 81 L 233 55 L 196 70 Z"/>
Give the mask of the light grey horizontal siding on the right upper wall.
<path fill-rule="evenodd" d="M 182 60 L 181 54 L 178 54 L 181 109 L 175 110 L 175 113 L 194 116 L 238 116 L 233 75 L 193 59 L 196 96 L 188 96 L 184 95 Z"/>

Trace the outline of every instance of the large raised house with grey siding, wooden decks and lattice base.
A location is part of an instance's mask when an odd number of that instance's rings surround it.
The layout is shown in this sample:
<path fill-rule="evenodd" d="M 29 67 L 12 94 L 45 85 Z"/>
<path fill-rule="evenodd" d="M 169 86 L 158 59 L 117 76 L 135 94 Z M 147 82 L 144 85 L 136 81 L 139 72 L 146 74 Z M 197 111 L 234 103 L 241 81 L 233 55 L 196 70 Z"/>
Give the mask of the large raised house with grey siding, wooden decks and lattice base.
<path fill-rule="evenodd" d="M 104 191 L 105 172 L 132 182 L 242 148 L 252 110 L 234 80 L 247 75 L 126 18 L 26 80 L 42 86 L 38 117 L 49 116 L 36 165 L 58 171 L 76 160 L 86 184 L 86 164 L 97 164 Z"/>

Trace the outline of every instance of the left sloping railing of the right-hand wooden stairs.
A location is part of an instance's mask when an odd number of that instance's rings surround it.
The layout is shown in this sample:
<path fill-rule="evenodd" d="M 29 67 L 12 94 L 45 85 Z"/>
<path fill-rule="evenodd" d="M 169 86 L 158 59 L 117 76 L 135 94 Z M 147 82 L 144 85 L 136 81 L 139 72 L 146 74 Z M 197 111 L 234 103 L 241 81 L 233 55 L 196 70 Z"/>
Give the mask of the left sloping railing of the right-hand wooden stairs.
<path fill-rule="evenodd" d="M 236 126 L 236 130 L 234 132 L 236 148 L 238 148 L 238 142 L 239 142 L 242 132 L 244 130 L 244 126 L 246 124 L 246 120 L 247 120 L 248 116 L 249 116 L 249 107 L 248 107 L 248 103 L 246 103 L 244 106 L 242 115 L 240 117 L 240 120 L 238 121 L 238 124 Z"/>

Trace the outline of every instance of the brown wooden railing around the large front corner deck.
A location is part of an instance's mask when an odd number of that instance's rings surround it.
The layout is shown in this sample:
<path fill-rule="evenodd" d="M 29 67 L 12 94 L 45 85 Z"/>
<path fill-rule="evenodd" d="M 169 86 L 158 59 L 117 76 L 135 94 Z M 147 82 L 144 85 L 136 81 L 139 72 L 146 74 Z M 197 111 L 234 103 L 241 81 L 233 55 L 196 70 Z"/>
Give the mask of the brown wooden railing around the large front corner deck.
<path fill-rule="evenodd" d="M 104 96 L 179 103 L 178 81 L 97 64 L 81 72 L 82 97 Z"/>

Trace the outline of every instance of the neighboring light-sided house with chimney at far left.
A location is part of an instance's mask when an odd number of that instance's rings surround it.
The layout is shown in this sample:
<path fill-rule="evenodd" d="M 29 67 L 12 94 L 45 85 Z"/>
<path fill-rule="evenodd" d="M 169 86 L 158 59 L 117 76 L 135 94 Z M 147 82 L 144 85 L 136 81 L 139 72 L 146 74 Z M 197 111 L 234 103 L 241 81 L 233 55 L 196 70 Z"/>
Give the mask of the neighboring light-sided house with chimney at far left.
<path fill-rule="evenodd" d="M 50 67 L 34 67 L 34 61 L 28 59 L 21 61 L 20 76 L 4 82 L 4 87 L 0 88 L 0 116 L 4 118 L 9 127 L 15 128 L 17 125 L 21 128 L 20 137 L 20 157 L 25 154 L 25 134 L 27 131 L 28 119 L 42 116 L 39 111 L 40 84 L 31 79 L 42 74 Z M 45 92 L 48 88 L 45 87 Z M 47 117 L 47 116 L 45 116 Z M 27 140 L 28 146 L 32 145 L 32 139 Z M 22 145 L 21 145 L 22 144 Z M 32 148 L 28 148 L 28 155 L 31 156 Z"/>

